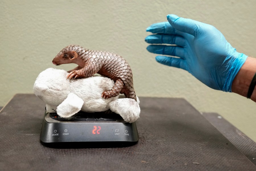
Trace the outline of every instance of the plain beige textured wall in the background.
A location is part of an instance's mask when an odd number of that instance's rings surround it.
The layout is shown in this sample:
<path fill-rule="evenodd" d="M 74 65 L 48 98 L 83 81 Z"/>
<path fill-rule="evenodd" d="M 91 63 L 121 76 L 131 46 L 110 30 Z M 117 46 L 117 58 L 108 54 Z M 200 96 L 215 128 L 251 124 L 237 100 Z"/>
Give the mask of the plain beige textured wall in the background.
<path fill-rule="evenodd" d="M 237 51 L 255 56 L 255 7 L 254 0 L 2 0 L 0 106 L 16 93 L 32 93 L 37 75 L 55 67 L 53 57 L 63 47 L 79 44 L 127 59 L 138 96 L 185 98 L 201 112 L 218 112 L 256 141 L 256 103 L 212 90 L 187 71 L 158 64 L 144 42 L 151 23 L 166 21 L 166 15 L 174 13 L 214 25 Z"/>

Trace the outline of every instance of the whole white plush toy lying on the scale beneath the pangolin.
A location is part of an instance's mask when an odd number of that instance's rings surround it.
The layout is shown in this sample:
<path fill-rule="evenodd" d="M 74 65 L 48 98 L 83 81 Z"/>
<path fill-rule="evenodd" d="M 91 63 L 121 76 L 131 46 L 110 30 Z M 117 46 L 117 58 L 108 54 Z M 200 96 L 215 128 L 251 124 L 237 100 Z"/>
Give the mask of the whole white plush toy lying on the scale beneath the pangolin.
<path fill-rule="evenodd" d="M 110 90 L 114 82 L 101 76 L 66 79 L 67 71 L 48 68 L 41 72 L 34 84 L 34 93 L 46 103 L 46 112 L 70 117 L 80 110 L 102 112 L 110 109 L 126 122 L 135 122 L 140 115 L 139 98 L 116 97 L 104 99 L 103 91 Z"/>

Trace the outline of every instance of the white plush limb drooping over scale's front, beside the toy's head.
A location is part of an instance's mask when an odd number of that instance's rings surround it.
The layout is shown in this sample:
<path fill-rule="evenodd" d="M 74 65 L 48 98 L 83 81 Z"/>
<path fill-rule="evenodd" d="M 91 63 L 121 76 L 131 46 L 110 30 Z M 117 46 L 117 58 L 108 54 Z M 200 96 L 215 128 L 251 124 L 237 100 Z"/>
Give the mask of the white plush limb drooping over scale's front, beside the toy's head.
<path fill-rule="evenodd" d="M 84 101 L 75 95 L 69 93 L 67 98 L 57 107 L 57 114 L 63 118 L 68 118 L 79 112 L 83 106 Z"/>

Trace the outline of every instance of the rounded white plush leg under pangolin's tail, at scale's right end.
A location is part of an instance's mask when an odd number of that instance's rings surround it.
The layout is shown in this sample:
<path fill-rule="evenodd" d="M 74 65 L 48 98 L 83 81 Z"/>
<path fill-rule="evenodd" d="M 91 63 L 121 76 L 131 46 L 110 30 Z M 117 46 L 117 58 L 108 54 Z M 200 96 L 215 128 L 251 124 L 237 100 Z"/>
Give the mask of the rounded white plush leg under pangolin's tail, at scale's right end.
<path fill-rule="evenodd" d="M 109 103 L 110 110 L 120 114 L 126 122 L 135 122 L 140 117 L 140 106 L 132 98 L 119 98 Z"/>

